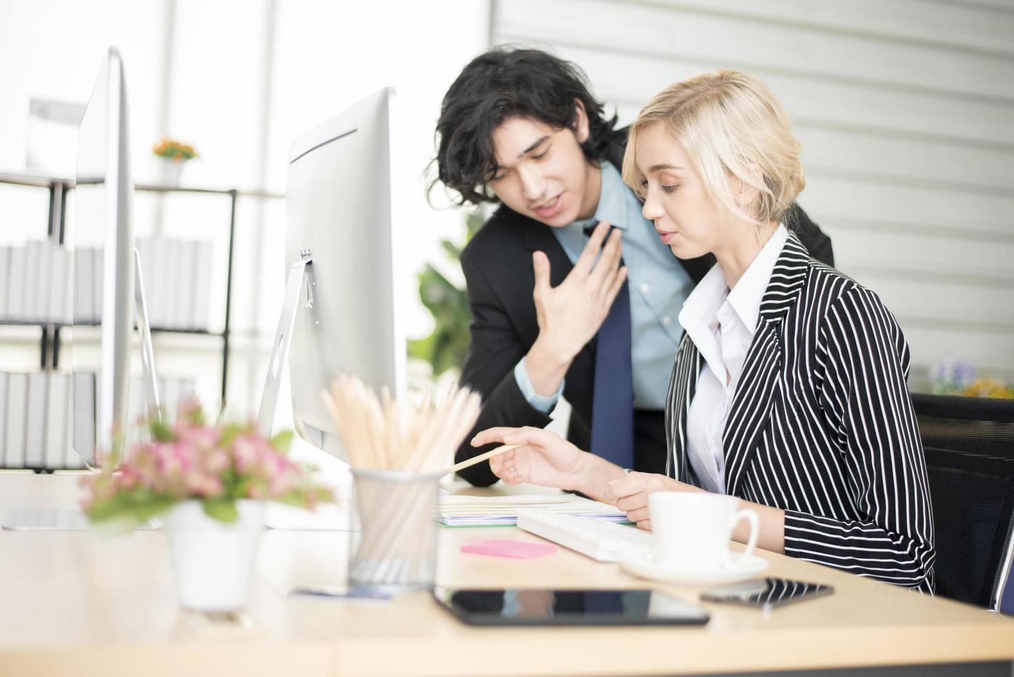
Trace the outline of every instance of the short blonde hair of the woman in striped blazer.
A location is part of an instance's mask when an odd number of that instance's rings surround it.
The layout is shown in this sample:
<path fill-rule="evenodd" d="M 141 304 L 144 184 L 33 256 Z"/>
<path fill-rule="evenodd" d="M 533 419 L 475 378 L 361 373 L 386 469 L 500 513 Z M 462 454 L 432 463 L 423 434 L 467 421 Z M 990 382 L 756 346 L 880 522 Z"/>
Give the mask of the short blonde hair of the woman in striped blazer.
<path fill-rule="evenodd" d="M 802 144 L 782 104 L 766 84 L 745 73 L 698 75 L 669 85 L 641 109 L 631 125 L 623 175 L 642 200 L 637 138 L 659 123 L 690 157 L 715 204 L 754 225 L 781 221 L 806 185 L 799 163 Z M 737 205 L 730 176 L 756 190 L 745 210 Z"/>

